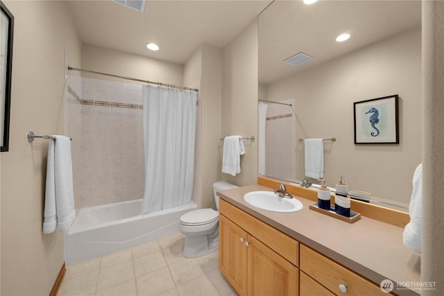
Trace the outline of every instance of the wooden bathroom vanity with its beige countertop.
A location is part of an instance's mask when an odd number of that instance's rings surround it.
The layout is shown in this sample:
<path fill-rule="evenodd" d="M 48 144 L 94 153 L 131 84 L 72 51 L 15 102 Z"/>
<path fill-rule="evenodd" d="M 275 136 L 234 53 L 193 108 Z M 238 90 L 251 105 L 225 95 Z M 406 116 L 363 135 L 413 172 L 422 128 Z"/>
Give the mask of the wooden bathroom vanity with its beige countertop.
<path fill-rule="evenodd" d="M 219 267 L 239 295 L 418 295 L 419 255 L 402 245 L 402 227 L 363 216 L 345 223 L 311 211 L 282 214 L 244 201 L 262 185 L 219 192 Z M 387 282 L 387 281 L 384 281 Z M 390 281 L 388 281 L 390 283 Z"/>

